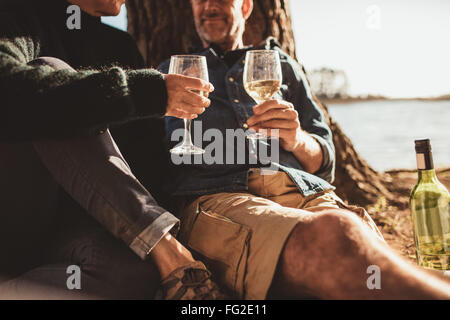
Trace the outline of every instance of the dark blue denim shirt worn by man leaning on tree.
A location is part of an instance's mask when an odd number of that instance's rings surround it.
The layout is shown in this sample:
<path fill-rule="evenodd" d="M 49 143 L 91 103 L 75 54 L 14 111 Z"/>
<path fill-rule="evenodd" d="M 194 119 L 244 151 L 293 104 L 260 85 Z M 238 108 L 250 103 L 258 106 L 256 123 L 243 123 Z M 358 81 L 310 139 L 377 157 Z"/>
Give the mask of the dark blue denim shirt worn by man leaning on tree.
<path fill-rule="evenodd" d="M 269 38 L 262 46 L 231 51 L 226 55 L 211 47 L 197 53 L 207 59 L 209 81 L 214 85 L 215 91 L 209 95 L 211 99 L 210 107 L 192 122 L 192 136 L 194 144 L 199 147 L 209 148 L 213 143 L 217 143 L 216 146 L 224 145 L 224 161 L 211 163 L 211 161 L 205 161 L 205 158 L 202 159 L 201 156 L 190 158 L 191 164 L 175 165 L 173 162 L 177 161 L 172 161 L 167 181 L 168 190 L 172 195 L 245 191 L 248 189 L 249 169 L 263 167 L 263 163 L 255 164 L 250 158 L 255 153 L 258 154 L 258 148 L 261 145 L 267 147 L 267 142 L 264 141 L 244 139 L 247 143 L 246 153 L 247 150 L 250 150 L 245 163 L 237 161 L 239 156 L 236 154 L 231 155 L 231 158 L 235 160 L 231 161 L 232 164 L 226 164 L 229 162 L 225 160 L 230 156 L 230 153 L 236 153 L 237 150 L 236 145 L 225 143 L 225 141 L 229 142 L 225 138 L 227 129 L 246 130 L 247 119 L 253 115 L 253 107 L 256 105 L 254 100 L 246 93 L 242 79 L 245 53 L 250 49 L 272 49 L 279 52 L 283 81 L 281 89 L 275 94 L 274 98 L 289 101 L 294 105 L 298 111 L 302 129 L 317 140 L 323 152 L 322 166 L 315 174 L 307 173 L 296 157 L 282 148 L 279 149 L 279 158 L 276 161 L 272 159 L 270 162 L 270 168 L 286 172 L 304 196 L 334 189 L 330 185 L 334 180 L 335 169 L 335 150 L 331 131 L 325 122 L 322 111 L 312 98 L 302 67 L 284 53 L 274 39 Z M 169 60 L 165 61 L 158 69 L 168 73 L 169 64 Z M 184 121 L 182 119 L 166 118 L 168 150 L 179 143 L 179 141 L 172 141 L 171 139 L 174 130 L 183 127 Z M 214 137 L 216 137 L 214 133 L 221 134 L 223 140 L 211 138 L 208 131 L 209 133 L 212 132 Z M 196 139 L 195 137 L 201 138 Z M 268 149 L 270 150 L 270 143 Z"/>

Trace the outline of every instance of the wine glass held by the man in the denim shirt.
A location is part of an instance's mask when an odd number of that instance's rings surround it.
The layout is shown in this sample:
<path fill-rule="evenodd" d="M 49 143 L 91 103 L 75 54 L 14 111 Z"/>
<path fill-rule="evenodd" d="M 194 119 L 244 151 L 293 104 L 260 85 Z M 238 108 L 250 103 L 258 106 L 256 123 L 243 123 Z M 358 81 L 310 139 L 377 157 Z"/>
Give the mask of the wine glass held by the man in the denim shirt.
<path fill-rule="evenodd" d="M 270 100 L 280 90 L 280 56 L 275 50 L 249 50 L 245 56 L 244 88 L 257 104 Z M 266 139 L 262 133 L 249 133 L 248 139 Z"/>

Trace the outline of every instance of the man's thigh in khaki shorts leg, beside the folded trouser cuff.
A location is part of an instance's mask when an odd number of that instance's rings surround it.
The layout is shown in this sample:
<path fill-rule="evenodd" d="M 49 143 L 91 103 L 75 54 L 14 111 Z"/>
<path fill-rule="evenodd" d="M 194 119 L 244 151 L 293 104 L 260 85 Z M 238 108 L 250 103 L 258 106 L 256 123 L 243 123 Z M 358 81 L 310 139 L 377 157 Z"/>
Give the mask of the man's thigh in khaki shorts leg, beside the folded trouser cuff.
<path fill-rule="evenodd" d="M 248 193 L 206 195 L 183 210 L 180 239 L 228 290 L 264 299 L 289 234 L 312 215 Z"/>

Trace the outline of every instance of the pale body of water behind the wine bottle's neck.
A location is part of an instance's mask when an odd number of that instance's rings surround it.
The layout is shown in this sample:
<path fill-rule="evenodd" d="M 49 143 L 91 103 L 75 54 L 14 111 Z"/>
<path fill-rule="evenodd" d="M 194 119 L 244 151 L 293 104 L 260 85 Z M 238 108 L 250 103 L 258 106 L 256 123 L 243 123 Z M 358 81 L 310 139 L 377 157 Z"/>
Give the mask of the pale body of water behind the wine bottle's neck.
<path fill-rule="evenodd" d="M 436 167 L 450 167 L 450 101 L 329 104 L 329 112 L 375 169 L 416 168 L 414 140 L 429 138 Z"/>

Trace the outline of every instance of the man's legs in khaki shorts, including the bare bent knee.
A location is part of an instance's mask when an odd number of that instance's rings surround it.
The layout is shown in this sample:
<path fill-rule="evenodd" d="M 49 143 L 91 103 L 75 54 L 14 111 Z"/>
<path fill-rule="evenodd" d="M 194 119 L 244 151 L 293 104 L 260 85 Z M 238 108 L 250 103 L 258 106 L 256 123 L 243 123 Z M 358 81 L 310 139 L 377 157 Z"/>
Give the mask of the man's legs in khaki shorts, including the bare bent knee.
<path fill-rule="evenodd" d="M 444 277 L 398 256 L 360 212 L 340 209 L 332 194 L 304 198 L 295 185 L 277 182 L 280 176 L 252 175 L 249 190 L 284 203 L 295 198 L 289 207 L 250 193 L 218 193 L 183 210 L 180 239 L 230 290 L 246 299 L 264 299 L 268 291 L 269 298 L 294 299 L 450 295 Z M 371 265 L 380 268 L 381 290 L 368 288 Z"/>

